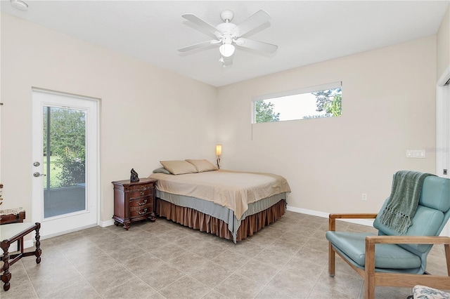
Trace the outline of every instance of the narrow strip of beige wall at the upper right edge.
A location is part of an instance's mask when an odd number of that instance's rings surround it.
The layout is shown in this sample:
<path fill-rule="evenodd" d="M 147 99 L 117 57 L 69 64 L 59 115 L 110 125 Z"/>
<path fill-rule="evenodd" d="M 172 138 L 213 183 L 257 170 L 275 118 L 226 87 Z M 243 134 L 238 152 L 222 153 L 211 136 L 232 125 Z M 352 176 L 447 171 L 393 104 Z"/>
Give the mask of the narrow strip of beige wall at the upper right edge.
<path fill-rule="evenodd" d="M 437 32 L 436 45 L 436 76 L 439 79 L 450 65 L 450 5 Z"/>

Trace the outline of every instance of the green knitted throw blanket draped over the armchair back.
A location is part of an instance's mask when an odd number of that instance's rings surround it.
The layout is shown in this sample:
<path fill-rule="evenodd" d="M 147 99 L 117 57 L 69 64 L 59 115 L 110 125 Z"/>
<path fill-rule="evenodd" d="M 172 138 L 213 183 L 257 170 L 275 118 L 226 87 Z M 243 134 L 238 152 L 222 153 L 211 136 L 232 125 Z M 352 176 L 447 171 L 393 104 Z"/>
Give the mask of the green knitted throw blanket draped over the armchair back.
<path fill-rule="evenodd" d="M 399 234 L 405 234 L 413 224 L 411 219 L 416 213 L 423 180 L 428 175 L 432 174 L 416 171 L 395 173 L 391 194 L 387 199 L 385 210 L 380 215 L 380 222 Z"/>

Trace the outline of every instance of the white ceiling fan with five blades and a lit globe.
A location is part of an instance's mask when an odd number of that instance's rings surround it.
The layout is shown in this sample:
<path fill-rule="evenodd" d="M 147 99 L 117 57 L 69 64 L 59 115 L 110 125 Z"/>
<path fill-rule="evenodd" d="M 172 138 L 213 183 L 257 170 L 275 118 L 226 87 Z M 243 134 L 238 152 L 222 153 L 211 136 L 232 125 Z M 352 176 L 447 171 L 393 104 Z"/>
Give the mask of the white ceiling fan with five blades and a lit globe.
<path fill-rule="evenodd" d="M 267 44 L 262 41 L 255 41 L 252 39 L 245 39 L 244 37 L 242 37 L 243 35 L 252 31 L 252 29 L 255 29 L 260 25 L 263 25 L 265 22 L 269 21 L 269 13 L 266 13 L 265 11 L 258 11 L 254 15 L 251 15 L 247 20 L 241 22 L 239 25 L 235 25 L 231 22 L 231 20 L 233 20 L 233 16 L 233 11 L 222 11 L 220 17 L 224 22 L 217 25 L 217 27 L 214 27 L 191 13 L 182 15 L 182 17 L 186 20 L 189 20 L 200 26 L 201 28 L 206 29 L 208 32 L 214 34 L 217 39 L 213 39 L 211 41 L 203 41 L 199 44 L 193 44 L 191 46 L 179 48 L 178 51 L 186 52 L 194 50 L 196 48 L 207 47 L 212 44 L 220 44 L 221 46 L 219 46 L 219 52 L 221 54 L 221 58 L 219 61 L 222 62 L 222 65 L 224 67 L 226 65 L 233 64 L 233 54 L 235 51 L 234 45 L 267 53 L 274 53 L 276 51 L 276 49 L 278 48 L 278 46 L 276 45 Z"/>

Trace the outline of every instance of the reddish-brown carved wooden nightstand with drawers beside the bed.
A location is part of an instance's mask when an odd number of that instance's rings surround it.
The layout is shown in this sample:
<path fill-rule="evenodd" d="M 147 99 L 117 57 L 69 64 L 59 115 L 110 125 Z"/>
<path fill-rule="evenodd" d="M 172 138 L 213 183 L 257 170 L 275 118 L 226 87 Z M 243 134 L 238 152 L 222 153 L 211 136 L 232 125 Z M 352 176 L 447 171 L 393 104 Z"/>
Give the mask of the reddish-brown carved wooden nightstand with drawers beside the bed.
<path fill-rule="evenodd" d="M 157 180 L 141 178 L 139 182 L 118 180 L 114 185 L 114 215 L 115 225 L 122 223 L 128 230 L 131 222 L 155 217 L 155 184 Z"/>

